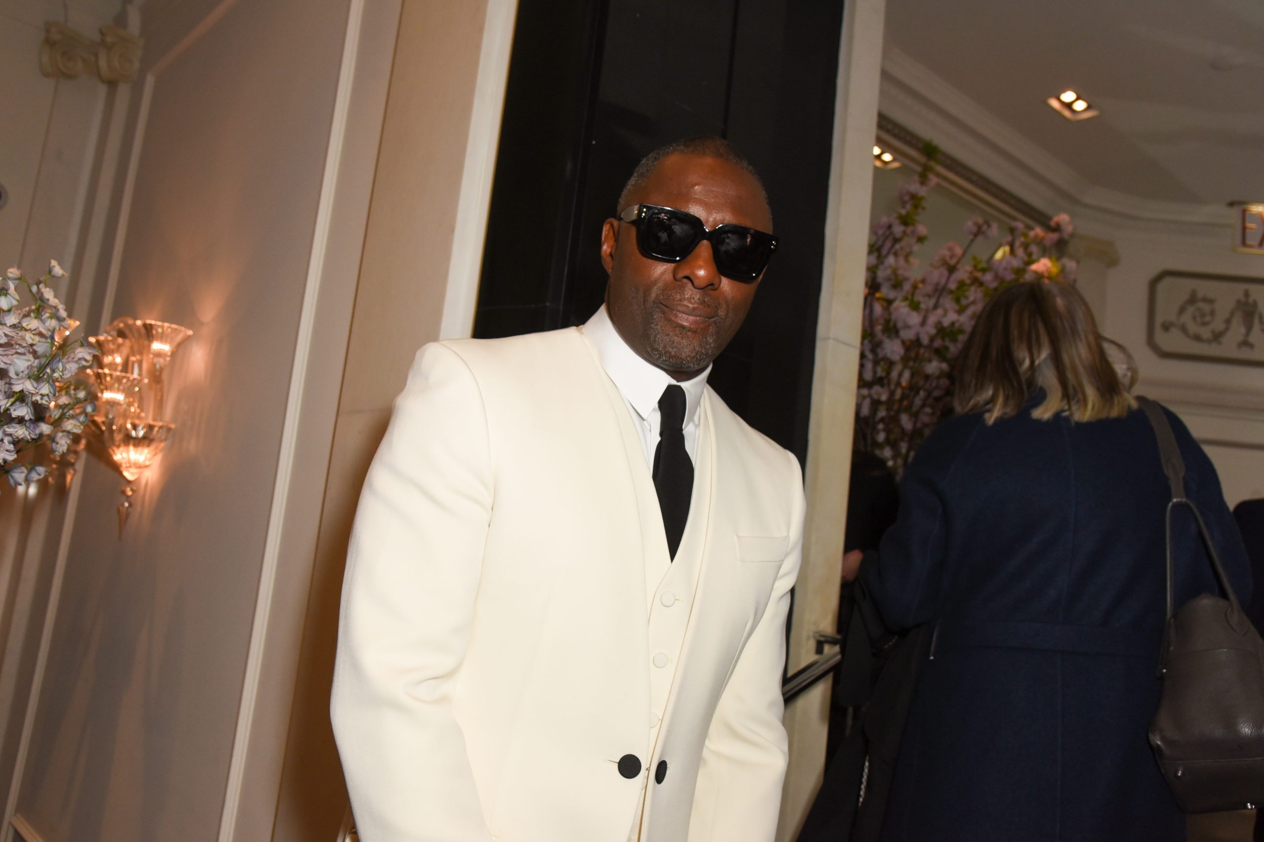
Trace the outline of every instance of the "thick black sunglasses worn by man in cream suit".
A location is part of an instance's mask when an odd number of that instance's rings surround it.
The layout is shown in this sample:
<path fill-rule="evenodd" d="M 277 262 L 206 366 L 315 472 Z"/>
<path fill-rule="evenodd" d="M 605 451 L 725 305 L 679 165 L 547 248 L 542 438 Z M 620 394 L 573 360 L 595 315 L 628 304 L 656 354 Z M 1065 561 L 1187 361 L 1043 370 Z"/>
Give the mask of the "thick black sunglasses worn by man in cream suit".
<path fill-rule="evenodd" d="M 707 240 L 719 274 L 743 284 L 763 273 L 777 249 L 771 234 L 728 223 L 708 231 L 696 216 L 672 207 L 633 205 L 619 213 L 619 220 L 636 226 L 636 245 L 651 260 L 680 263 Z"/>

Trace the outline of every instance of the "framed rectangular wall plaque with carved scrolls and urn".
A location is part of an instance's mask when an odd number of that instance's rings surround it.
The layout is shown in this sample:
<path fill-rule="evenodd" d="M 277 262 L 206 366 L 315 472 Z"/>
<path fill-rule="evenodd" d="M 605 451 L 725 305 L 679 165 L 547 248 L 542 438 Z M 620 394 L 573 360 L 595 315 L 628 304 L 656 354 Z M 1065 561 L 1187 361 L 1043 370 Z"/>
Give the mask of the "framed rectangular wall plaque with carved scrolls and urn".
<path fill-rule="evenodd" d="M 1159 273 L 1149 345 L 1162 357 L 1264 365 L 1264 278 Z"/>

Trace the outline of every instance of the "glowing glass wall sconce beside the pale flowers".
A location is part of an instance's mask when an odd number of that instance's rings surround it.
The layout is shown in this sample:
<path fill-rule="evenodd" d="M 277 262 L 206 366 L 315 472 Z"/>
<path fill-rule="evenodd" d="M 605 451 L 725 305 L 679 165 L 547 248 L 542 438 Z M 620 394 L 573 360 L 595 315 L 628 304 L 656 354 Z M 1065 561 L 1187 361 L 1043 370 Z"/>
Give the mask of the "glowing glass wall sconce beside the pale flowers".
<path fill-rule="evenodd" d="M 176 429 L 163 420 L 163 372 L 192 335 L 178 324 L 124 317 L 101 336 L 87 337 L 101 362 L 86 372 L 96 390 L 91 427 L 128 481 L 119 504 L 120 535 L 131 511 L 133 482 L 158 460 Z"/>

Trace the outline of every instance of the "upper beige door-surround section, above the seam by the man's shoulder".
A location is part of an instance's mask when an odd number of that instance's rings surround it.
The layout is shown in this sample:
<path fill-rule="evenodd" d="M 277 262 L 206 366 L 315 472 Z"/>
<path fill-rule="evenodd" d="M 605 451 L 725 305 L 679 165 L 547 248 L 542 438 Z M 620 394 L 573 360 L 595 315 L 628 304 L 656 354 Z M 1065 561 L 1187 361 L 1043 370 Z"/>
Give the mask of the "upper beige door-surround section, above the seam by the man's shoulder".
<path fill-rule="evenodd" d="M 413 353 L 439 336 L 485 6 L 403 4 L 343 408 L 388 406 Z"/>

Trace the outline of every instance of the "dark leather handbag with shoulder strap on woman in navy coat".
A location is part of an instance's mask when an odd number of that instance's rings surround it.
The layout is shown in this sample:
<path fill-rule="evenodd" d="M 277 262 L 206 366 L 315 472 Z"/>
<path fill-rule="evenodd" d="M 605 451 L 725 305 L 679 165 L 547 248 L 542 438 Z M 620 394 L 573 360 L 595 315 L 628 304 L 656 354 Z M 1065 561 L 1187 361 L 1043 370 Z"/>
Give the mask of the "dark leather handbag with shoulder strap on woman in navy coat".
<path fill-rule="evenodd" d="M 1172 485 L 1167 509 L 1168 612 L 1159 655 L 1163 689 L 1150 746 L 1187 813 L 1264 804 L 1264 641 L 1234 593 L 1202 513 L 1184 494 L 1184 461 L 1167 415 L 1139 398 Z M 1193 514 L 1224 596 L 1202 593 L 1174 610 L 1172 515 Z"/>

